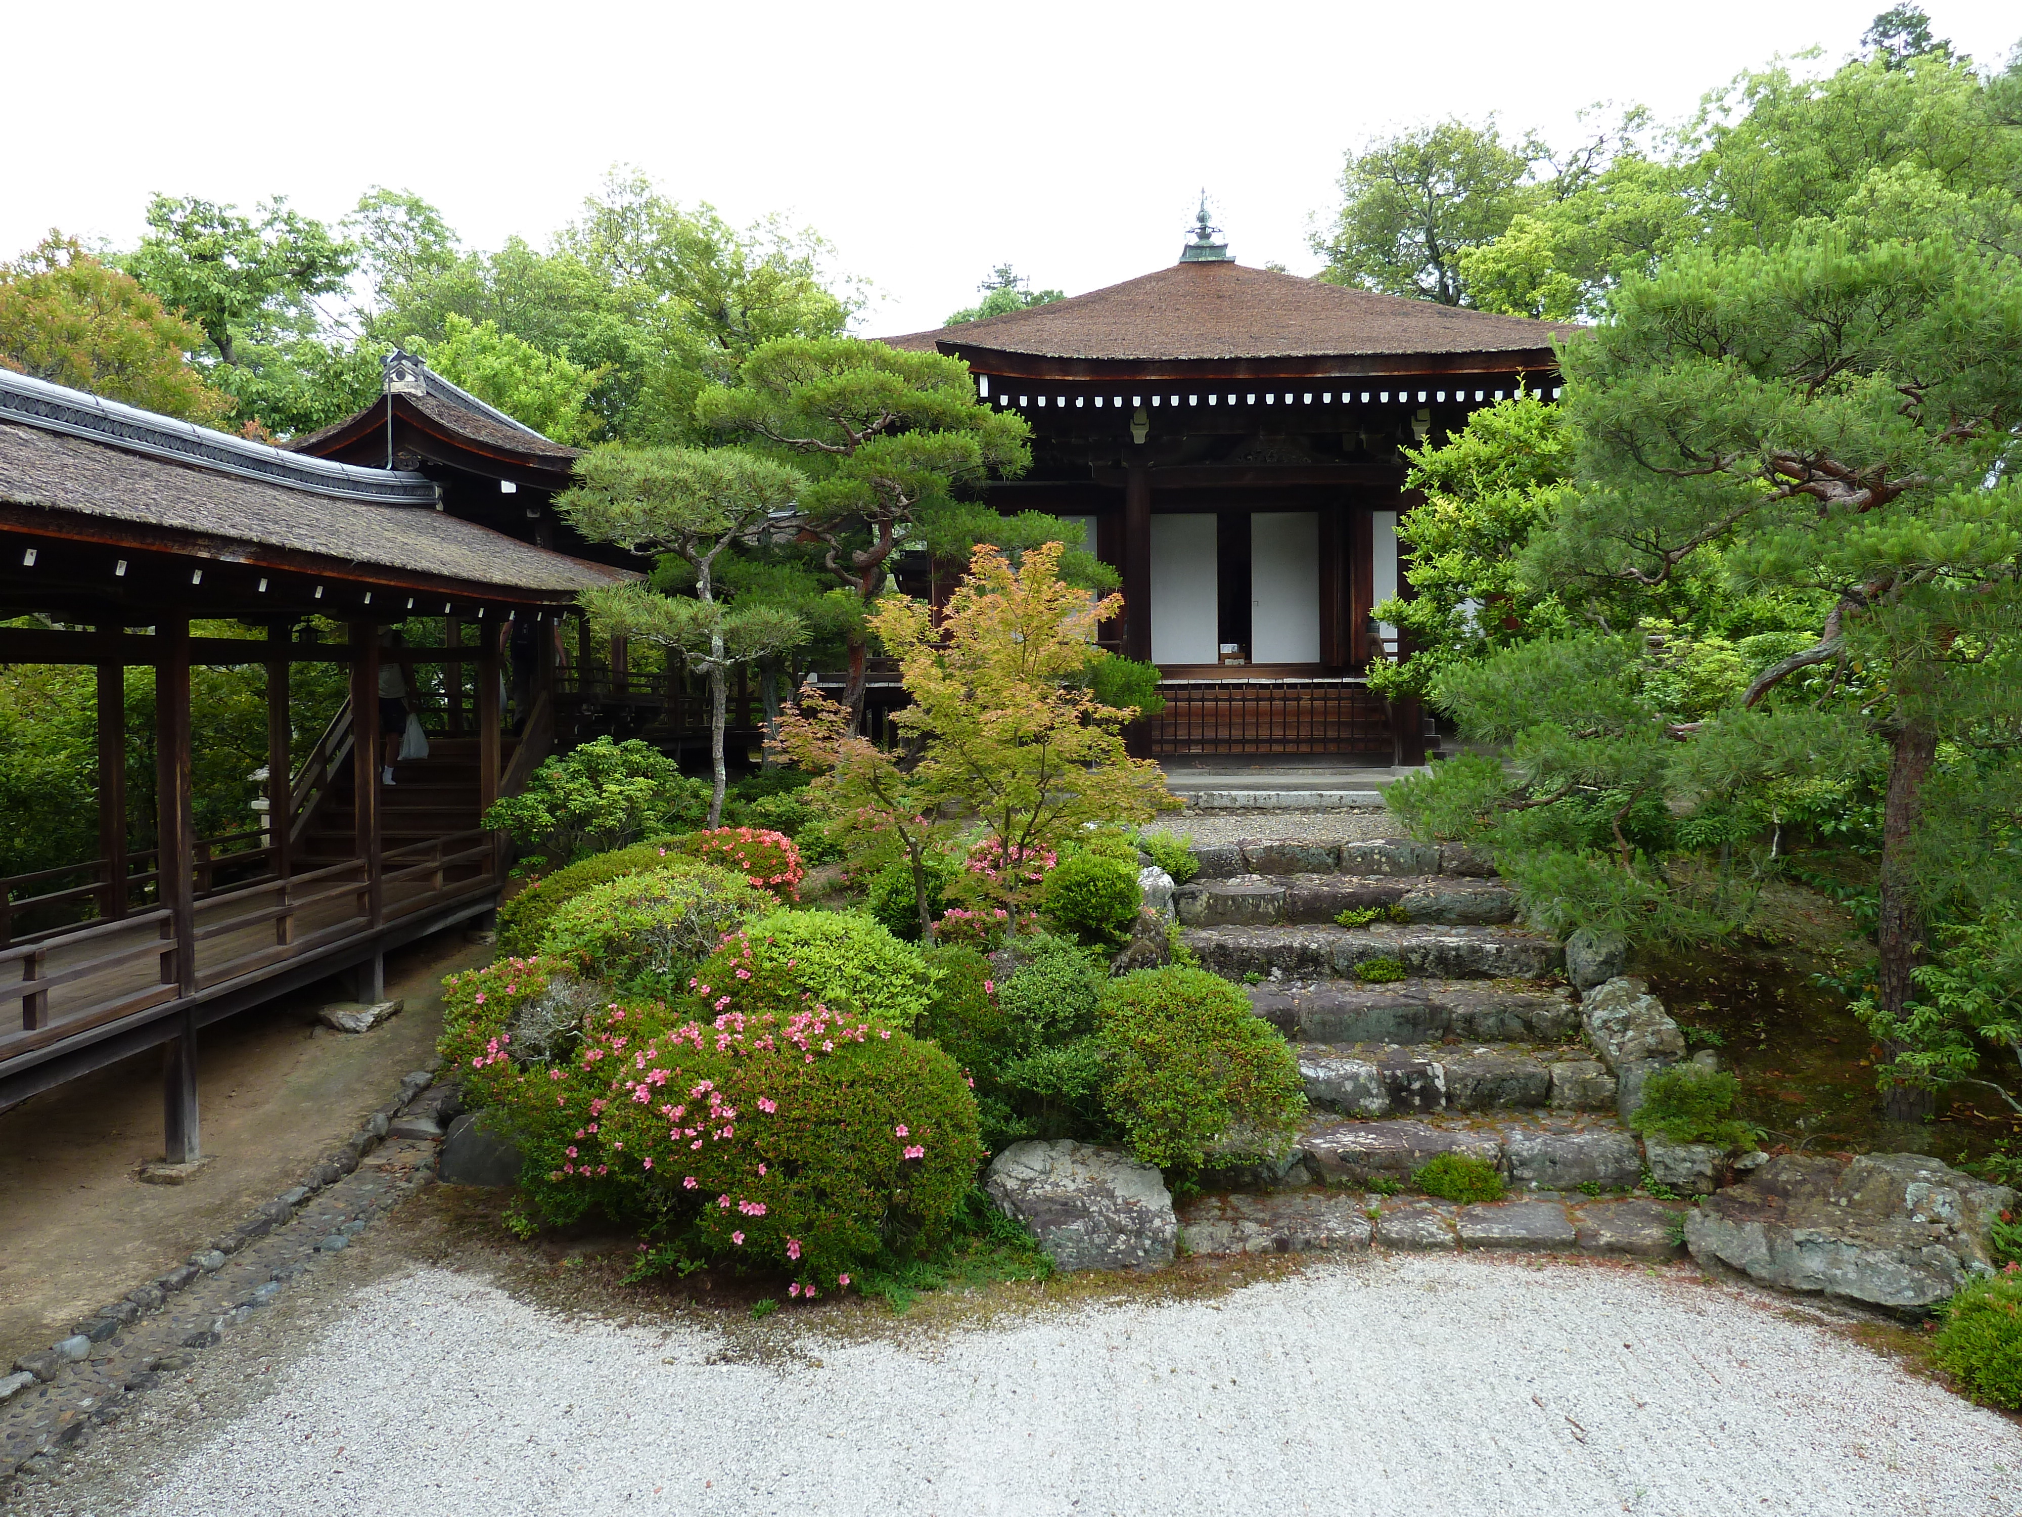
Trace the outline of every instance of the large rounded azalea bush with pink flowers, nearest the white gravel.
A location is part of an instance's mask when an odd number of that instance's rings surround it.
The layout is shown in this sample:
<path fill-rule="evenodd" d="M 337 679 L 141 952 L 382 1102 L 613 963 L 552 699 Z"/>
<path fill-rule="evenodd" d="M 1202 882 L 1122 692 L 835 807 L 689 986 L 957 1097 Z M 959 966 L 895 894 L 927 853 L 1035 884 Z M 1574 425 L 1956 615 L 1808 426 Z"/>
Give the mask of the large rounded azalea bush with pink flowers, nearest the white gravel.
<path fill-rule="evenodd" d="M 791 1274 L 795 1297 L 946 1238 L 981 1151 L 938 1048 L 855 1015 L 766 1007 L 712 1028 L 647 1003 L 594 1011 L 568 1058 L 522 1064 L 501 1036 L 548 979 L 516 961 L 445 995 L 443 1052 L 520 1143 L 536 1218 L 601 1210 L 651 1240 L 645 1272 L 728 1260 Z"/>

